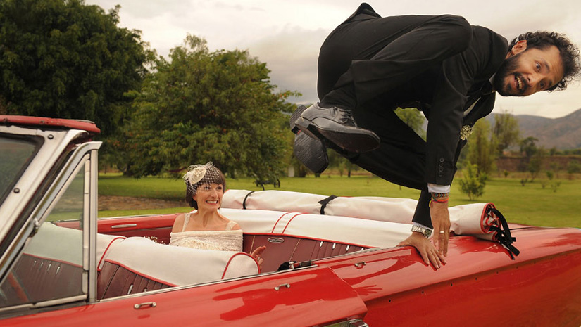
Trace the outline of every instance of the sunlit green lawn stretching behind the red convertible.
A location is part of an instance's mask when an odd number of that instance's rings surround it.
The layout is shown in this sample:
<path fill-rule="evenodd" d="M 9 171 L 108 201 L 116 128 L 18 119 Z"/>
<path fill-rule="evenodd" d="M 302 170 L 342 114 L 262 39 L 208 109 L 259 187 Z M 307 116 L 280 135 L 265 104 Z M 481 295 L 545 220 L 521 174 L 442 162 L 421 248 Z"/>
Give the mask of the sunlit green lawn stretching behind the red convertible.
<path fill-rule="evenodd" d="M 551 184 L 559 182 L 556 192 Z M 492 178 L 487 181 L 485 194 L 470 201 L 460 193 L 458 183 L 452 186 L 450 205 L 492 202 L 504 214 L 508 222 L 535 226 L 570 226 L 581 228 L 581 180 L 557 179 L 548 181 L 537 179 L 525 186 L 520 178 Z M 273 186 L 265 186 L 273 189 Z M 227 188 L 260 191 L 254 179 L 228 179 Z M 279 188 L 276 188 L 279 189 Z M 282 178 L 280 189 L 344 196 L 385 196 L 392 198 L 417 199 L 419 191 L 404 188 L 370 176 L 339 177 L 324 175 L 320 178 Z M 180 179 L 148 177 L 132 179 L 118 174 L 99 176 L 99 194 L 122 195 L 138 198 L 158 198 L 180 201 L 184 195 L 184 184 Z M 189 207 L 175 207 L 163 210 L 116 210 L 101 211 L 99 217 L 130 214 L 161 214 L 185 212 Z"/>

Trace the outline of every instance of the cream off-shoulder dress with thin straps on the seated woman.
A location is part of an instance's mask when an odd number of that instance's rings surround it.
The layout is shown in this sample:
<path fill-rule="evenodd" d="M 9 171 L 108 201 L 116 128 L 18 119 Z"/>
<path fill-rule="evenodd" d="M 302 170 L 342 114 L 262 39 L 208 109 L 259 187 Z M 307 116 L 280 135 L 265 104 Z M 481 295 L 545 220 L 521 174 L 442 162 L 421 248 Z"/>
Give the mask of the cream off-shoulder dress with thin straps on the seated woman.
<path fill-rule="evenodd" d="M 170 233 L 170 245 L 202 250 L 242 251 L 242 229 L 232 230 L 235 222 L 228 222 L 224 231 L 185 231 L 191 213 L 185 214 L 182 231 Z"/>

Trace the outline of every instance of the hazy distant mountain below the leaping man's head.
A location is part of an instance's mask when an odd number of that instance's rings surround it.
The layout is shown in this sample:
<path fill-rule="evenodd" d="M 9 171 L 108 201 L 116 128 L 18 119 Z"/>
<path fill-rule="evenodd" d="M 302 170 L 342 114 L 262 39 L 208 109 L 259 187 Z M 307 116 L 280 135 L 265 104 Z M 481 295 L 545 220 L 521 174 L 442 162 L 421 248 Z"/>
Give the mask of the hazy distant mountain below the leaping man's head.
<path fill-rule="evenodd" d="M 537 146 L 559 150 L 581 148 L 581 109 L 559 118 L 516 115 L 520 137 L 539 139 Z"/>

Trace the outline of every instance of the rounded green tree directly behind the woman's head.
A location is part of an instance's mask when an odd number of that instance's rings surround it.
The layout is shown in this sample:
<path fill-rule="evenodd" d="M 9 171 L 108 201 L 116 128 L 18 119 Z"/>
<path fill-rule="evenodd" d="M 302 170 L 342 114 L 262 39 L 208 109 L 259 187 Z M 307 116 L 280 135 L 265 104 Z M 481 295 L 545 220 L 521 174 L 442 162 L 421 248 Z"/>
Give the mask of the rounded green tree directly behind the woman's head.
<path fill-rule="evenodd" d="M 214 162 L 230 177 L 267 179 L 288 158 L 292 92 L 275 92 L 269 70 L 247 51 L 210 52 L 188 36 L 157 58 L 136 94 L 125 168 L 135 177 Z M 120 142 L 121 143 L 121 142 Z"/>

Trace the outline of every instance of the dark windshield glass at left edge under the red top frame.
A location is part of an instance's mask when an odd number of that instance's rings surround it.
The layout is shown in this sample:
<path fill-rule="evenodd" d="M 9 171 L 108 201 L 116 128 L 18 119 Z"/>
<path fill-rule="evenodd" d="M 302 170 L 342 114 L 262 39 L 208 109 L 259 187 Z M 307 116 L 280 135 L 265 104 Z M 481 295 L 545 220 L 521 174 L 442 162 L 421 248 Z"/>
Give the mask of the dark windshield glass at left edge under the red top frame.
<path fill-rule="evenodd" d="M 35 140 L 0 135 L 0 203 L 4 202 L 39 148 L 40 144 Z"/>

